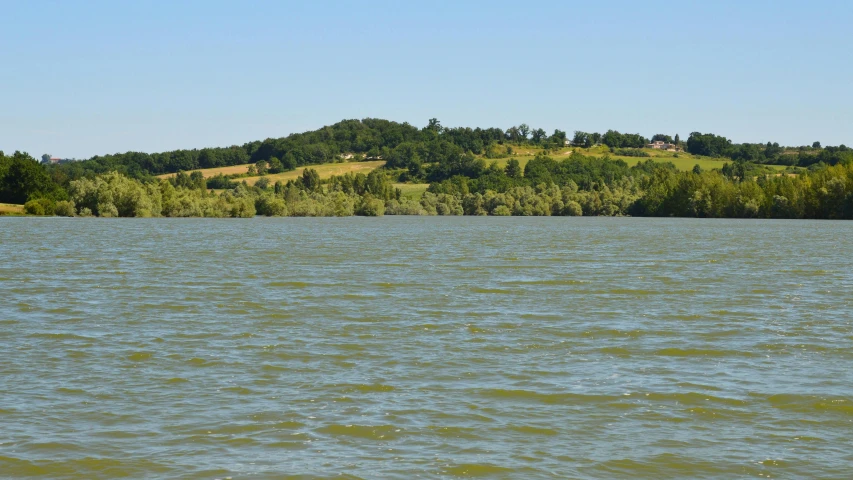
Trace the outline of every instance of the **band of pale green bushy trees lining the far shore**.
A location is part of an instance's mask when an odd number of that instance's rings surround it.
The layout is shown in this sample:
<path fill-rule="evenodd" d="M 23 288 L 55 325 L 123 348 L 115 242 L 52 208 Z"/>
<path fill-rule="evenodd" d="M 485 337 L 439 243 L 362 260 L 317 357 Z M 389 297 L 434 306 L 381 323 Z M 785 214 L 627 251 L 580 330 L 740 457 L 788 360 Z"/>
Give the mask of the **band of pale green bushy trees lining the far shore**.
<path fill-rule="evenodd" d="M 404 198 L 383 170 L 316 179 L 306 169 L 286 184 L 238 183 L 214 193 L 177 180 L 143 182 L 118 172 L 69 183 L 61 198 L 29 200 L 32 215 L 99 217 L 253 217 L 379 215 L 567 215 L 733 218 L 853 218 L 853 164 L 827 166 L 800 175 L 740 179 L 720 171 L 678 172 L 648 161 L 624 162 L 574 156 L 560 162 L 542 157 L 556 171 L 536 181 L 538 162 L 525 175 L 513 164 L 487 167 L 477 179 L 455 176 L 433 183 L 419 199 Z M 617 172 L 609 171 L 614 163 Z M 578 163 L 606 167 L 590 177 Z M 566 173 L 575 171 L 575 173 Z M 607 173 L 605 173 L 607 172 Z M 621 172 L 621 173 L 620 173 Z M 540 172 L 541 175 L 541 172 Z M 609 178 L 607 178 L 609 176 Z M 584 183 L 581 188 L 572 177 Z M 495 188 L 492 188 L 495 187 Z M 51 193 L 50 191 L 48 193 Z M 55 192 L 52 192 L 55 193 Z"/>

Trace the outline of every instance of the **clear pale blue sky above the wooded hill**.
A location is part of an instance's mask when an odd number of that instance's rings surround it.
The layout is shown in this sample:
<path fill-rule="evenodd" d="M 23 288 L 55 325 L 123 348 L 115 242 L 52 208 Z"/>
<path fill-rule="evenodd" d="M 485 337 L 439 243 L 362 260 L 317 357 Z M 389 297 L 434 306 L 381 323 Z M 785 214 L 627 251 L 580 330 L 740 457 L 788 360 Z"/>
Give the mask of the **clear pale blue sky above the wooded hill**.
<path fill-rule="evenodd" d="M 853 2 L 0 0 L 0 150 L 345 118 L 853 144 Z"/>

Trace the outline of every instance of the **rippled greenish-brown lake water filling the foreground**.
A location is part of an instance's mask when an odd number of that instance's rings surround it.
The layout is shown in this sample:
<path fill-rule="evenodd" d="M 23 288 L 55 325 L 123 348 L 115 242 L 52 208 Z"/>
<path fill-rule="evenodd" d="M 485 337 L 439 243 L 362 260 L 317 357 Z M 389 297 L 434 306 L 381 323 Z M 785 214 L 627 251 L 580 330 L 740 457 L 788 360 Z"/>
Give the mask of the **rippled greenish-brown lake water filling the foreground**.
<path fill-rule="evenodd" d="M 849 477 L 853 223 L 0 219 L 0 476 Z"/>

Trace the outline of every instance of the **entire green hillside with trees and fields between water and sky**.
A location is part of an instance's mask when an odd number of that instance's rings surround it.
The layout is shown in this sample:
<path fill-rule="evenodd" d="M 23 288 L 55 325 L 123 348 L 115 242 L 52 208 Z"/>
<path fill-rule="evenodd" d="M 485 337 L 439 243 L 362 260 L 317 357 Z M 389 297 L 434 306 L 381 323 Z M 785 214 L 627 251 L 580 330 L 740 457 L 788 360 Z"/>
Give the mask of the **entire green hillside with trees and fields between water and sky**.
<path fill-rule="evenodd" d="M 243 146 L 59 165 L 0 152 L 0 202 L 24 204 L 31 215 L 102 217 L 853 218 L 853 150 L 844 145 L 615 131 L 572 140 L 524 124 L 444 128 L 431 120 L 418 129 L 367 119 Z M 655 140 L 670 151 L 645 148 Z"/>

